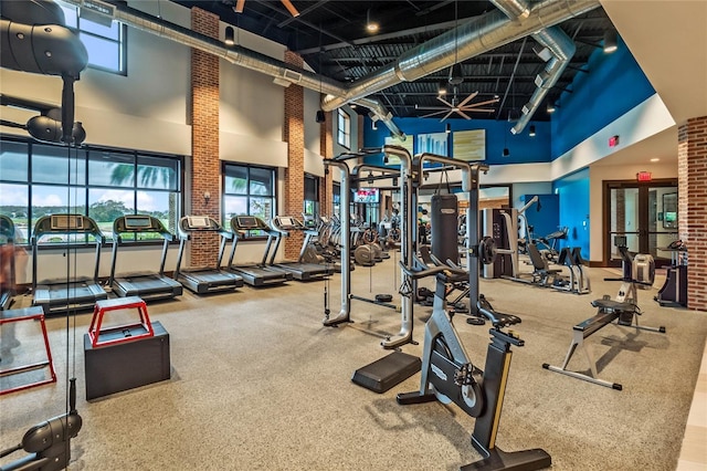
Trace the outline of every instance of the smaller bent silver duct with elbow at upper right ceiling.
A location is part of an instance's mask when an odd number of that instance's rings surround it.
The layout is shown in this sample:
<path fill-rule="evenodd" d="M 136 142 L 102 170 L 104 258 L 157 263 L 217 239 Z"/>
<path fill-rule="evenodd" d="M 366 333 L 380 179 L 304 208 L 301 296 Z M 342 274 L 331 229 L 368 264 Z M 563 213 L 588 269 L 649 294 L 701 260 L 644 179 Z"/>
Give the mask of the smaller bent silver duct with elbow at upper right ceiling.
<path fill-rule="evenodd" d="M 530 9 L 525 0 L 492 0 L 492 3 L 503 11 L 510 20 L 523 22 L 530 14 Z M 542 103 L 550 88 L 555 86 L 562 75 L 562 72 L 570 63 L 577 48 L 572 40 L 564 34 L 560 27 L 547 28 L 532 34 L 532 38 L 540 43 L 550 54 L 547 60 L 545 70 L 536 77 L 537 88 L 530 101 L 526 103 L 521 111 L 520 118 L 514 127 L 510 128 L 513 134 L 521 133 L 526 125 L 535 115 L 535 112 Z M 538 54 L 542 57 L 542 54 Z"/>

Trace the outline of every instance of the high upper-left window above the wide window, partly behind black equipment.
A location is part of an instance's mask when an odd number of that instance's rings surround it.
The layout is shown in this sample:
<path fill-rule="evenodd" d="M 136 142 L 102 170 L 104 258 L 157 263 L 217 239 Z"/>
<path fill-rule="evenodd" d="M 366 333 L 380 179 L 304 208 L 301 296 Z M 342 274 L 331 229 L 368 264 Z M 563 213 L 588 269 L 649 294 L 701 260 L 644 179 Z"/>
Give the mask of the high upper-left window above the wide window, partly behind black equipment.
<path fill-rule="evenodd" d="M 66 27 L 78 30 L 78 38 L 88 51 L 88 65 L 106 72 L 127 74 L 127 27 L 113 21 L 109 27 L 95 23 L 78 15 L 75 6 L 61 6 Z"/>

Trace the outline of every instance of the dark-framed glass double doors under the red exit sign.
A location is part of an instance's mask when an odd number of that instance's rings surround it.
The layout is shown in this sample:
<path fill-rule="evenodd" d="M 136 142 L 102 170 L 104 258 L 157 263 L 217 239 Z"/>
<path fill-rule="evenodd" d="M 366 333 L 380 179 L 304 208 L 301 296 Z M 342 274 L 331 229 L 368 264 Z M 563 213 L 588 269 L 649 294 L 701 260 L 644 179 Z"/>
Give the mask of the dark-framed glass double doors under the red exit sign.
<path fill-rule="evenodd" d="M 621 265 L 618 236 L 626 238 L 631 253 L 650 253 L 656 266 L 671 264 L 671 252 L 661 250 L 677 239 L 677 180 L 647 182 L 604 181 L 604 261 Z"/>

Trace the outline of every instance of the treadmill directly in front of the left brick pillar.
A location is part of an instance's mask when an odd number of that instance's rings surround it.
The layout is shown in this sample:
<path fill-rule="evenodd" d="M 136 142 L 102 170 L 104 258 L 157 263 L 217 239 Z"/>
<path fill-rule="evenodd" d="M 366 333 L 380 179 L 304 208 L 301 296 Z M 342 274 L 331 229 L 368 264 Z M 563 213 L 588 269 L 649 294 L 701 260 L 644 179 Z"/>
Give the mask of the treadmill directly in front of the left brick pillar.
<path fill-rule="evenodd" d="M 221 270 L 225 242 L 233 238 L 233 233 L 224 230 L 215 219 L 208 216 L 184 216 L 179 220 L 177 229 L 179 232 L 179 255 L 177 255 L 175 280 L 197 294 L 228 292 L 243 286 L 243 279 L 240 275 Z M 221 237 L 217 265 L 181 270 L 187 241 L 191 239 L 193 233 L 199 232 L 215 232 Z"/>

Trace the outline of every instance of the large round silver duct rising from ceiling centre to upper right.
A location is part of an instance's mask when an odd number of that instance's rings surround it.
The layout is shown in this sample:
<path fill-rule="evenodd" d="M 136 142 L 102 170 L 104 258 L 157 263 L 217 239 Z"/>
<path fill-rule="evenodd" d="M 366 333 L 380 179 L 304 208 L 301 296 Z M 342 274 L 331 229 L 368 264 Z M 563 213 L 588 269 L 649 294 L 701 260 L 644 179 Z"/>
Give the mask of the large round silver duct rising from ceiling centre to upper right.
<path fill-rule="evenodd" d="M 521 22 L 508 19 L 503 11 L 490 11 L 407 51 L 395 62 L 356 81 L 344 95 L 325 97 L 321 108 L 333 111 L 400 82 L 414 82 L 598 7 L 599 0 L 545 0 L 534 4 Z"/>

